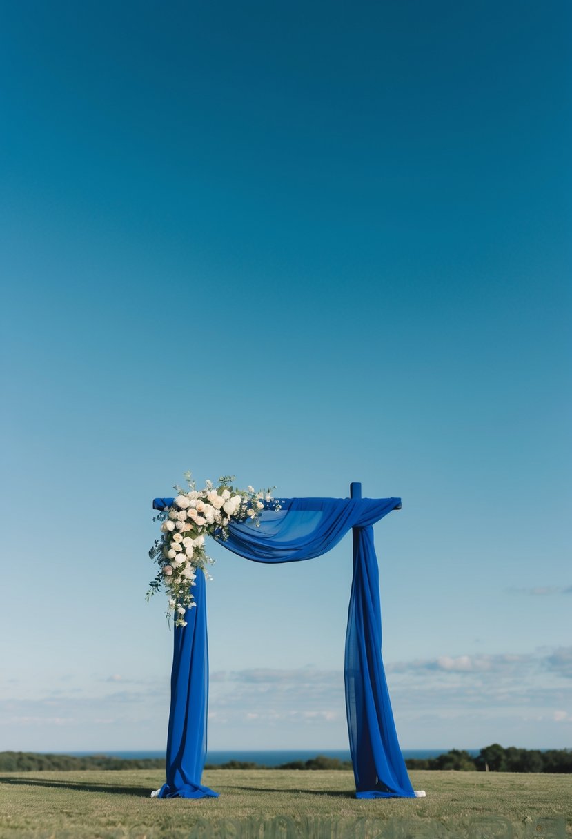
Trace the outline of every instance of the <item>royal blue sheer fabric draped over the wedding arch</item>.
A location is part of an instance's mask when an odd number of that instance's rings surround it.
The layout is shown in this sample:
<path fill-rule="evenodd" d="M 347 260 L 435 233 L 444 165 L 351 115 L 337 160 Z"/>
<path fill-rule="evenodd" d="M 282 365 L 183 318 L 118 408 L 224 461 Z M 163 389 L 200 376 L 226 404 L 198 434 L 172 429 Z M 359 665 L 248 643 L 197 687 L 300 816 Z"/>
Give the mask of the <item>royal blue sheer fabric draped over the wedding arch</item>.
<path fill-rule="evenodd" d="M 164 509 L 172 498 L 155 498 Z M 399 748 L 382 663 L 382 618 L 372 524 L 399 498 L 289 498 L 263 509 L 260 526 L 231 524 L 221 542 L 255 562 L 295 562 L 325 554 L 353 529 L 353 580 L 346 633 L 346 714 L 356 797 L 413 798 Z M 174 629 L 167 781 L 159 798 L 216 796 L 200 784 L 206 756 L 208 649 L 205 580 L 197 574 L 196 607 Z"/>

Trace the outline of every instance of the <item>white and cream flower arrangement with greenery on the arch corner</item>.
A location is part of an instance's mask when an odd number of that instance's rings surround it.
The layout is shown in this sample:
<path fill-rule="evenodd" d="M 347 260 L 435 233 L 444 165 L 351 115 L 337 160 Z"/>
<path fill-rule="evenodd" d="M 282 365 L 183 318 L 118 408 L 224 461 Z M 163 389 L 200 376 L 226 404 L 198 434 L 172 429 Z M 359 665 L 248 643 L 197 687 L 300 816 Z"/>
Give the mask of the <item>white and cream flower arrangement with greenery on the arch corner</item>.
<path fill-rule="evenodd" d="M 149 583 L 147 600 L 164 586 L 169 597 L 167 616 L 174 616 L 176 627 L 185 627 L 185 613 L 194 607 L 192 586 L 196 573 L 202 571 L 207 578 L 208 565 L 214 560 L 206 554 L 205 536 L 228 538 L 231 522 L 249 520 L 257 527 L 263 508 L 280 509 L 272 498 L 269 487 L 265 492 L 254 487 L 238 489 L 233 486 L 234 475 L 223 475 L 218 486 L 211 481 L 204 489 L 197 489 L 190 472 L 185 475 L 188 489 L 175 485 L 178 492 L 171 507 L 165 507 L 153 521 L 160 521 L 161 538 L 155 539 L 149 556 L 159 565 L 154 580 Z"/>

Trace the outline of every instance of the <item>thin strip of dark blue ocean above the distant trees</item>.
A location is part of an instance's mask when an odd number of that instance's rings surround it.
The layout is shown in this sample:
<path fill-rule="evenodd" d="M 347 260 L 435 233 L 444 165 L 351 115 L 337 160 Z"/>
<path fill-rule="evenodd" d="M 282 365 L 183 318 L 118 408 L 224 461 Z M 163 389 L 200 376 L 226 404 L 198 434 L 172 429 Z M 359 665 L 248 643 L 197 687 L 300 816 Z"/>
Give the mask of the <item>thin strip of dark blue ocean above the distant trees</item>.
<path fill-rule="evenodd" d="M 424 760 L 436 758 L 439 754 L 449 752 L 449 748 L 404 748 L 403 758 Z M 472 757 L 480 752 L 478 748 L 465 749 Z M 54 754 L 54 752 L 51 752 Z M 122 758 L 123 760 L 148 760 L 165 757 L 165 751 L 157 749 L 145 750 L 89 750 L 85 752 L 58 752 L 58 754 L 69 754 L 72 757 L 85 758 L 90 755 L 105 755 L 108 758 Z M 292 763 L 294 760 L 302 762 L 316 758 L 319 754 L 326 758 L 339 758 L 340 760 L 351 760 L 349 749 L 345 748 L 304 748 L 304 749 L 212 749 L 206 753 L 205 763 L 220 764 L 229 763 L 231 760 L 242 763 L 259 763 L 261 766 L 279 766 L 282 763 Z"/>

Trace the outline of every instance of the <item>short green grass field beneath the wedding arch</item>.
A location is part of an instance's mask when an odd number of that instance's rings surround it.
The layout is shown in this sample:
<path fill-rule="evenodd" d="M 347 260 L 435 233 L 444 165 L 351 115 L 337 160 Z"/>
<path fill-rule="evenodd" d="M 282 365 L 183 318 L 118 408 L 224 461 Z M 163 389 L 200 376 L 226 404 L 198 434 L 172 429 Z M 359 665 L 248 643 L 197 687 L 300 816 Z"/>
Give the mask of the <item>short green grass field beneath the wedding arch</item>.
<path fill-rule="evenodd" d="M 572 776 L 411 772 L 424 799 L 357 800 L 351 772 L 213 769 L 218 799 L 157 800 L 153 770 L 0 774 L 2 839 L 519 839 L 572 835 Z"/>

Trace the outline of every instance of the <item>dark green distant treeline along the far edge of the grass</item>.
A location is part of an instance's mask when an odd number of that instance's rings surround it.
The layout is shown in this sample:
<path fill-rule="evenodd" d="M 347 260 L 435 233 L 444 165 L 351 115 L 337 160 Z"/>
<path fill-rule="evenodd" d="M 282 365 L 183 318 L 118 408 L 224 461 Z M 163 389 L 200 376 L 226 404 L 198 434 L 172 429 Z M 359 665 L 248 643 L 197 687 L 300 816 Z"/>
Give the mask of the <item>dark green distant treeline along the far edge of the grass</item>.
<path fill-rule="evenodd" d="M 462 772 L 561 772 L 572 773 L 572 750 L 568 748 L 538 749 L 503 748 L 498 743 L 481 748 L 476 757 L 453 748 L 437 758 L 408 758 L 408 769 L 455 769 Z M 108 758 L 104 754 L 74 757 L 68 754 L 34 752 L 0 752 L 0 772 L 38 772 L 44 769 L 74 771 L 76 769 L 164 769 L 164 758 Z M 319 754 L 311 760 L 294 760 L 280 766 L 263 766 L 242 760 L 228 763 L 207 763 L 205 769 L 351 769 L 349 760 L 327 758 Z"/>

